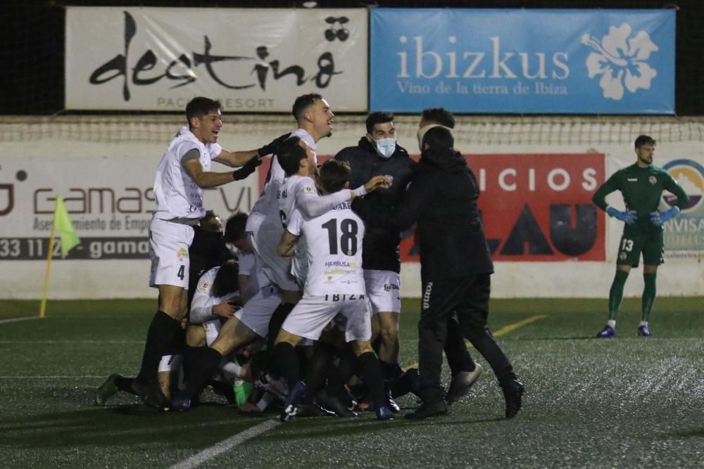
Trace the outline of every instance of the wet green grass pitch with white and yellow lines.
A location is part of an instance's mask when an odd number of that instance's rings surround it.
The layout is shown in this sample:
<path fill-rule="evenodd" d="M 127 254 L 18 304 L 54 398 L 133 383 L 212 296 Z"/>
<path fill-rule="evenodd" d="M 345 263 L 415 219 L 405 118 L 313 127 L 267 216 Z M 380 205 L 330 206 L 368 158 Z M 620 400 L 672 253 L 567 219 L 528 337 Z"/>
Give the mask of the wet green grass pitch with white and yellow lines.
<path fill-rule="evenodd" d="M 608 340 L 594 338 L 605 300 L 492 300 L 489 325 L 527 387 L 516 418 L 503 418 L 501 391 L 486 369 L 446 417 L 298 419 L 217 455 L 218 442 L 277 413 L 245 416 L 213 394 L 188 413 L 156 413 L 131 395 L 93 405 L 110 373 L 138 370 L 155 303 L 49 302 L 48 317 L 10 322 L 36 314 L 39 304 L 0 302 L 0 467 L 195 467 L 189 458 L 203 450 L 203 468 L 684 468 L 704 461 L 704 298 L 659 298 L 648 339 L 636 337 L 639 300 L 627 300 L 617 337 Z M 417 362 L 417 311 L 417 300 L 404 301 L 405 366 Z M 412 397 L 398 403 L 417 405 Z"/>

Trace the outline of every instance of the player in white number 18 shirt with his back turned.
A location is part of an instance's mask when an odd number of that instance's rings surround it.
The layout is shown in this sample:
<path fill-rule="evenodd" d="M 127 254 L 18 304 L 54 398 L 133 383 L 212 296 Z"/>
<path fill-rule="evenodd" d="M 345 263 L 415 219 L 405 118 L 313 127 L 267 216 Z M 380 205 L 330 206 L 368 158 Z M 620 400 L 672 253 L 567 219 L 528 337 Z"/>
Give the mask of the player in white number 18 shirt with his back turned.
<path fill-rule="evenodd" d="M 339 161 L 329 160 L 320 168 L 320 184 L 327 193 L 339 191 L 348 179 L 349 167 Z M 273 351 L 275 366 L 289 385 L 282 421 L 294 418 L 296 404 L 306 399 L 306 385 L 300 380 L 294 347 L 303 338 L 318 340 L 338 314 L 347 319 L 346 341 L 352 342 L 358 356 L 377 418 L 394 418 L 384 399 L 382 368 L 369 342 L 372 326 L 362 269 L 363 236 L 363 221 L 352 212 L 349 203 L 341 203 L 311 219 L 303 219 L 300 212 L 294 211 L 288 220 L 287 231 L 279 242 L 279 255 L 294 255 L 298 238 L 305 238 L 308 276 L 303 298 L 284 321 Z"/>

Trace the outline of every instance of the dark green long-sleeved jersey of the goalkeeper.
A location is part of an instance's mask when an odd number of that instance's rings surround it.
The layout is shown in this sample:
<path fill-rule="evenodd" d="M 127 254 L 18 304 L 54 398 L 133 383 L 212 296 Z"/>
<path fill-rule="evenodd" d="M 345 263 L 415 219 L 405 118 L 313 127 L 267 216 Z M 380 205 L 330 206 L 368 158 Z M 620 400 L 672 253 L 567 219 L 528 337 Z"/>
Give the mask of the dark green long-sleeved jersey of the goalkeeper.
<path fill-rule="evenodd" d="M 606 195 L 621 191 L 626 210 L 635 210 L 638 220 L 632 225 L 626 225 L 627 231 L 657 231 L 650 221 L 650 213 L 658 210 L 662 191 L 670 191 L 677 196 L 677 207 L 684 209 L 689 203 L 689 195 L 672 179 L 670 173 L 657 166 L 646 168 L 630 165 L 611 175 L 611 177 L 596 190 L 591 199 L 601 210 L 606 210 Z"/>

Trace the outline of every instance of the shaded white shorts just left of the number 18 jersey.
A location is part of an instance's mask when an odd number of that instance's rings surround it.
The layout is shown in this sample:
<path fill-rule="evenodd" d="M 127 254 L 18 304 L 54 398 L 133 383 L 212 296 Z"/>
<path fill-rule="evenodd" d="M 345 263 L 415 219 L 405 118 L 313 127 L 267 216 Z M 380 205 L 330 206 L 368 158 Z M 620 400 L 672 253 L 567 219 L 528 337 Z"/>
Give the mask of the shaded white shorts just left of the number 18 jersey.
<path fill-rule="evenodd" d="M 281 257 L 277 252 L 279 240 L 284 233 L 284 227 L 278 215 L 274 217 L 252 212 L 247 219 L 246 231 L 268 281 L 276 285 L 279 290 L 301 290 L 296 283 L 296 278 L 291 274 L 291 258 Z M 260 281 L 259 284 L 264 283 Z"/>

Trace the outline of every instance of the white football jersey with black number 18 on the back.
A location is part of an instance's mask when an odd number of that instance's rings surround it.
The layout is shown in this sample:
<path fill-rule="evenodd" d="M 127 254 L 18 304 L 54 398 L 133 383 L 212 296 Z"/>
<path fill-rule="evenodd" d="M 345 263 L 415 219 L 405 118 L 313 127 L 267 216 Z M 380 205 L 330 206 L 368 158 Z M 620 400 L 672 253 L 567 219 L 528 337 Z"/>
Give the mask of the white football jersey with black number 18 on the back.
<path fill-rule="evenodd" d="M 306 243 L 308 274 L 303 295 L 365 294 L 362 269 L 365 227 L 351 210 L 351 203 L 341 203 L 320 217 L 307 220 L 296 210 L 287 230 L 300 235 Z"/>

